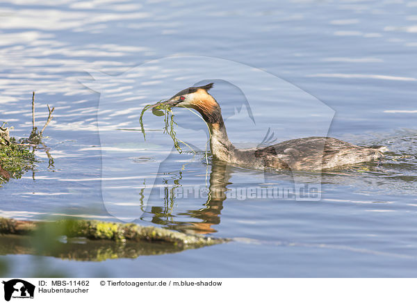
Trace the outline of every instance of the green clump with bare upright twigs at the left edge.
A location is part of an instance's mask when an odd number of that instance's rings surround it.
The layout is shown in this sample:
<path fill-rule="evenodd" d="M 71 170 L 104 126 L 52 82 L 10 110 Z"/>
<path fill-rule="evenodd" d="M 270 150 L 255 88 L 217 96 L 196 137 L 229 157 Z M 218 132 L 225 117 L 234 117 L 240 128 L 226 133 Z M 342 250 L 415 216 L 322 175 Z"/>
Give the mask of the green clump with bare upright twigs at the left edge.
<path fill-rule="evenodd" d="M 54 107 L 50 108 L 49 116 L 41 131 L 35 126 L 35 92 L 32 94 L 32 131 L 28 138 L 17 140 L 10 137 L 10 128 L 3 122 L 0 127 L 0 184 L 10 178 L 20 179 L 24 172 L 33 170 L 35 163 L 35 148 L 42 145 L 49 158 L 49 165 L 53 165 L 54 159 L 49 150 L 42 143 L 42 135 L 48 124 L 53 119 Z M 51 164 L 52 163 L 52 164 Z"/>

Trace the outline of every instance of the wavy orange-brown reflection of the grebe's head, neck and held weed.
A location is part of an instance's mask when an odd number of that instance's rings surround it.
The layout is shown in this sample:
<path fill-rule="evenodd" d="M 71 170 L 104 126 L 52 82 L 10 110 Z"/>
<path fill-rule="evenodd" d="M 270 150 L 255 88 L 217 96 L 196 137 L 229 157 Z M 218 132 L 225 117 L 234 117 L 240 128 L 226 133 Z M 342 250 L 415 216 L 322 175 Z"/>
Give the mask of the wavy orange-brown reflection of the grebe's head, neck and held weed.
<path fill-rule="evenodd" d="M 174 179 L 175 186 L 165 186 L 164 188 L 164 206 L 152 206 L 152 222 L 170 229 L 176 229 L 186 232 L 195 232 L 198 234 L 210 234 L 216 232 L 212 225 L 220 224 L 220 213 L 223 209 L 223 202 L 226 199 L 226 186 L 230 179 L 230 170 L 232 167 L 213 159 L 209 179 L 208 193 L 203 208 L 191 209 L 186 213 L 172 214 L 175 204 L 175 189 L 181 186 L 182 173 L 179 172 Z M 165 181 L 167 184 L 167 181 Z M 176 220 L 177 217 L 190 218 L 188 222 Z"/>

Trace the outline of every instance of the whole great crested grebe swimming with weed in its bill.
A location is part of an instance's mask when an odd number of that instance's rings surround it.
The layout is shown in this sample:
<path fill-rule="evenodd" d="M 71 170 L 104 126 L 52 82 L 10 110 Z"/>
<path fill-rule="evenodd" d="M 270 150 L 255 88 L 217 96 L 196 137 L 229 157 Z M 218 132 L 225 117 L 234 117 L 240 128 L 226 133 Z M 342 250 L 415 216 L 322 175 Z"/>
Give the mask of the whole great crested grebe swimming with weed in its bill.
<path fill-rule="evenodd" d="M 208 124 L 211 154 L 221 161 L 245 167 L 277 170 L 322 170 L 374 161 L 382 156 L 384 147 L 360 147 L 327 137 L 300 138 L 269 147 L 237 149 L 227 137 L 218 102 L 208 93 L 211 88 L 213 83 L 186 88 L 154 106 L 197 110 Z"/>

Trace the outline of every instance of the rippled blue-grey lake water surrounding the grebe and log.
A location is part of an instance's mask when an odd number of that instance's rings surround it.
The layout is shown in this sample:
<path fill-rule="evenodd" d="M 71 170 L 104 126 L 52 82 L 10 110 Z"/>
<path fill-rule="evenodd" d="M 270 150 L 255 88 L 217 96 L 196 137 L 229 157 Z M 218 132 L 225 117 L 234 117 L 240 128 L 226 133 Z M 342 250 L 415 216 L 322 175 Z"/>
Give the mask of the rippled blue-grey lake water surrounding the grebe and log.
<path fill-rule="evenodd" d="M 44 140 L 54 163 L 37 151 L 42 162 L 34 174 L 0 189 L 1 216 L 138 214 L 140 224 L 234 238 L 100 263 L 40 258 L 49 270 L 78 277 L 416 276 L 415 2 L 7 1 L 0 18 L 1 120 L 15 126 L 13 136 L 27 136 L 33 90 L 39 124 L 46 104 L 56 107 Z M 181 61 L 182 55 L 224 65 Z M 237 65 L 230 69 L 229 62 Z M 247 66 L 270 76 L 242 72 Z M 99 79 L 101 95 L 87 72 Z M 206 126 L 188 111 L 176 112 L 179 138 L 197 155 L 172 151 L 161 118 L 150 114 L 143 141 L 138 117 L 145 104 L 211 79 L 236 145 L 259 145 L 271 127 L 278 141 L 329 131 L 391 151 L 381 163 L 323 174 L 319 201 L 172 198 L 179 186 L 232 191 L 294 184 L 292 174 L 211 158 L 207 165 Z M 298 177 L 320 181 L 316 174 Z M 140 199 L 142 183 L 154 179 L 149 200 Z M 6 258 L 11 275 L 36 272 L 33 256 Z"/>

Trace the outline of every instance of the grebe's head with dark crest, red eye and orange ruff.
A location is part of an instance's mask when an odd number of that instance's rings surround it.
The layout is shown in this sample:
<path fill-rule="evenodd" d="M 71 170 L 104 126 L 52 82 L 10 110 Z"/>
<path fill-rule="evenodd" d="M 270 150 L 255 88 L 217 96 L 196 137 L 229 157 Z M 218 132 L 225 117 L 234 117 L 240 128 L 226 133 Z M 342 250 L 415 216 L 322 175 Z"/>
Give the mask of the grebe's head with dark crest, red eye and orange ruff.
<path fill-rule="evenodd" d="M 158 102 L 156 106 L 193 108 L 202 115 L 207 123 L 215 124 L 222 121 L 222 113 L 217 101 L 208 93 L 208 90 L 211 88 L 213 88 L 213 83 L 192 86 L 181 90 L 181 92 L 178 92 L 166 101 Z"/>

